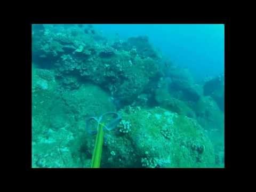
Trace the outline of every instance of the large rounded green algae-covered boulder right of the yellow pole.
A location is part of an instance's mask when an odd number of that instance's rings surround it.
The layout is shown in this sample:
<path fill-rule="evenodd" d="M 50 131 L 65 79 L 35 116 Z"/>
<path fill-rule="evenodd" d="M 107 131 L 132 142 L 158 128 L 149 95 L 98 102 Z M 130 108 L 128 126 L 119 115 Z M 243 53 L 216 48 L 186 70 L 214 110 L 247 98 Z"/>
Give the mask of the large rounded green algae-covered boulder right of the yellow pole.
<path fill-rule="evenodd" d="M 211 141 L 194 119 L 159 107 L 130 107 L 119 113 L 131 129 L 105 133 L 102 167 L 214 166 Z"/>

